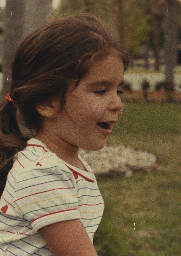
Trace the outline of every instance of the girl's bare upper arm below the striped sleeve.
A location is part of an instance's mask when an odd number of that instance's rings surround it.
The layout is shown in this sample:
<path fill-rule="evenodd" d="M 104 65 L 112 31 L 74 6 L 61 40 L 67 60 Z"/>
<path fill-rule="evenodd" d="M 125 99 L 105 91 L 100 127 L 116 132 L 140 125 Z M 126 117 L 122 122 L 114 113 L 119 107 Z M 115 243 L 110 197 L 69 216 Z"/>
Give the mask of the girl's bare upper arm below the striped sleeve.
<path fill-rule="evenodd" d="M 50 224 L 39 233 L 55 256 L 97 256 L 80 219 Z"/>

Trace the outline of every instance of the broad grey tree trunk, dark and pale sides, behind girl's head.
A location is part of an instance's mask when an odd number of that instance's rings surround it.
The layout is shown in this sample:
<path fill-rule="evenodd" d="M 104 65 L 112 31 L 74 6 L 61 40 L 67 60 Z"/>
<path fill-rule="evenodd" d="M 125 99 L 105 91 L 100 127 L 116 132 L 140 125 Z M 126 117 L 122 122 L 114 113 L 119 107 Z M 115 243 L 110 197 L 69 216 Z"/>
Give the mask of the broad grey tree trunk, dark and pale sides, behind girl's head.
<path fill-rule="evenodd" d="M 3 91 L 4 97 L 11 84 L 11 62 L 19 41 L 27 33 L 40 26 L 47 15 L 50 17 L 52 0 L 7 0 L 4 26 Z"/>

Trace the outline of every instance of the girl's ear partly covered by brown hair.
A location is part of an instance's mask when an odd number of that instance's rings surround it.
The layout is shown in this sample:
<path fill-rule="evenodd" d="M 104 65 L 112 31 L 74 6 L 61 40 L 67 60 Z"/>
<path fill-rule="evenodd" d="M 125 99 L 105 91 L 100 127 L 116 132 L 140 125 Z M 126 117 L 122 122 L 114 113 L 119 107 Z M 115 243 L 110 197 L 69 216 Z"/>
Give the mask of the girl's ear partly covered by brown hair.
<path fill-rule="evenodd" d="M 36 106 L 36 110 L 44 117 L 54 118 L 60 111 L 60 100 L 58 98 L 51 98 L 43 101 Z"/>

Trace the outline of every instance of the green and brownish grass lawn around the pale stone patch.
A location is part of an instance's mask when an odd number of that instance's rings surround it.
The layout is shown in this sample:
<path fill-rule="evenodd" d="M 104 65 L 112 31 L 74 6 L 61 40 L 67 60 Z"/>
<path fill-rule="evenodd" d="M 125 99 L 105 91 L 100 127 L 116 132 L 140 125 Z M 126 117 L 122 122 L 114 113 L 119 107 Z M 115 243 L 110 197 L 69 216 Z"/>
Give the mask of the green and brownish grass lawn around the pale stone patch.
<path fill-rule="evenodd" d="M 160 172 L 98 179 L 99 256 L 181 256 L 181 105 L 128 103 L 108 139 L 155 153 Z"/>

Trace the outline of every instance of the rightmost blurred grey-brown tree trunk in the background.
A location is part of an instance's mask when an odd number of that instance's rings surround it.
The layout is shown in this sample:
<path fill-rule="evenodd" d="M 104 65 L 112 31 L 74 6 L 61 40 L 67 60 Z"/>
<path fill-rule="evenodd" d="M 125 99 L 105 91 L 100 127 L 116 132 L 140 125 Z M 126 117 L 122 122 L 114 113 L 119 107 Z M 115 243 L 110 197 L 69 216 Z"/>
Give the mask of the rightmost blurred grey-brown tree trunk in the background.
<path fill-rule="evenodd" d="M 165 81 L 167 90 L 173 91 L 178 49 L 177 1 L 166 0 L 165 2 Z"/>

